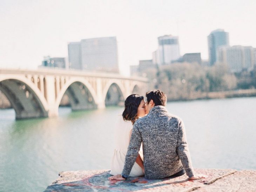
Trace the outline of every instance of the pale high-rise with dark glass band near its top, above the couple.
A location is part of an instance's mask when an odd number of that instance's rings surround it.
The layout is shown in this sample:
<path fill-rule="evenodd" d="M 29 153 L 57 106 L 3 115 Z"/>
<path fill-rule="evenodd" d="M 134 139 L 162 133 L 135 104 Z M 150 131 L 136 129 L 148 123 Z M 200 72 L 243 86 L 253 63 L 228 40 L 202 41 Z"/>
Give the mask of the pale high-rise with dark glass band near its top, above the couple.
<path fill-rule="evenodd" d="M 153 52 L 153 64 L 170 64 L 171 61 L 180 57 L 180 47 L 178 37 L 164 35 L 158 37 L 158 49 Z"/>

